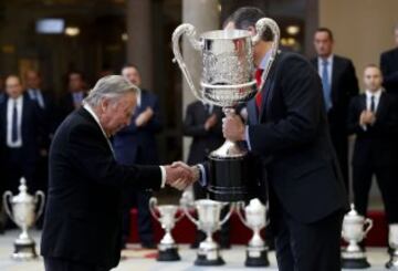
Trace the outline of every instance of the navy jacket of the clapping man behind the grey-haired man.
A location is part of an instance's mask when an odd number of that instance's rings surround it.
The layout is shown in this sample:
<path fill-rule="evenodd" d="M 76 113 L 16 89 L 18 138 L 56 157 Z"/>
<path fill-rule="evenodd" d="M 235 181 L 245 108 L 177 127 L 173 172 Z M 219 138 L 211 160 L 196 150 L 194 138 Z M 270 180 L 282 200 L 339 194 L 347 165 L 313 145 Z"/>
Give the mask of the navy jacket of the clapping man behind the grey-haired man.
<path fill-rule="evenodd" d="M 155 114 L 145 126 L 137 127 L 135 121 L 147 107 L 150 107 Z M 116 160 L 123 165 L 159 164 L 155 135 L 160 131 L 158 98 L 155 94 L 143 90 L 140 105 L 136 107 L 130 125 L 119 131 L 113 138 Z"/>

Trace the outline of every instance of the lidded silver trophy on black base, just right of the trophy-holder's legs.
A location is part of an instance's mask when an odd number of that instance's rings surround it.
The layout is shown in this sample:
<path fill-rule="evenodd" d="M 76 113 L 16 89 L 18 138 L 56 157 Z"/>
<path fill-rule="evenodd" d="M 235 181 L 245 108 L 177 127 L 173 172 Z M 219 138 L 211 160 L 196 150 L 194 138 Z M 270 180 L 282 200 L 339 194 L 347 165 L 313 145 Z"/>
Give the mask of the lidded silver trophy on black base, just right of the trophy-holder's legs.
<path fill-rule="evenodd" d="M 350 211 L 343 219 L 342 234 L 344 240 L 348 242 L 348 246 L 342 251 L 342 265 L 345 269 L 368 268 L 370 264 L 358 242 L 365 239 L 373 227 L 373 221 L 369 218 L 365 219 L 363 216 L 359 216 L 353 204 L 350 208 Z M 366 228 L 364 229 L 365 226 Z"/>

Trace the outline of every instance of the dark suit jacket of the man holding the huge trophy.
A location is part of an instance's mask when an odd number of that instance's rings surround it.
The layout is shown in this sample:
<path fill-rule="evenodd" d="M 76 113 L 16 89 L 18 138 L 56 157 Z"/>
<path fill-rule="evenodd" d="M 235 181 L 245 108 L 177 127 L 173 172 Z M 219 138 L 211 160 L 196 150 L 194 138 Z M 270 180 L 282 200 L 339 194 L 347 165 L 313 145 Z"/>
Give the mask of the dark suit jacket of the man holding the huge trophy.
<path fill-rule="evenodd" d="M 248 104 L 251 149 L 264 159 L 270 190 L 302 222 L 347 208 L 322 93 L 308 61 L 281 53 L 264 85 L 260 116 L 255 101 Z M 270 207 L 277 208 L 272 200 Z"/>

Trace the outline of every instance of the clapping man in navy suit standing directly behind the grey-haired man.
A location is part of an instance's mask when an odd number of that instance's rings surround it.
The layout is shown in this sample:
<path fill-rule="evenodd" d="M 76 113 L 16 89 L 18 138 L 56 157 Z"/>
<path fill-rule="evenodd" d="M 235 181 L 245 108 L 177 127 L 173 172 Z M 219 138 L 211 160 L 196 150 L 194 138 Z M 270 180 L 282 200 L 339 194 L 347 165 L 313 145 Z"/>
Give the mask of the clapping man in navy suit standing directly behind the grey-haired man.
<path fill-rule="evenodd" d="M 138 69 L 127 64 L 122 69 L 122 75 L 132 84 L 140 87 Z M 157 149 L 156 134 L 161 131 L 159 102 L 154 93 L 140 90 L 137 106 L 128 126 L 121 129 L 113 138 L 116 160 L 126 166 L 130 165 L 157 165 L 159 155 Z M 154 241 L 154 228 L 149 211 L 150 191 L 125 189 L 123 191 L 123 244 L 129 237 L 130 208 L 138 210 L 138 233 L 143 248 L 156 248 Z"/>

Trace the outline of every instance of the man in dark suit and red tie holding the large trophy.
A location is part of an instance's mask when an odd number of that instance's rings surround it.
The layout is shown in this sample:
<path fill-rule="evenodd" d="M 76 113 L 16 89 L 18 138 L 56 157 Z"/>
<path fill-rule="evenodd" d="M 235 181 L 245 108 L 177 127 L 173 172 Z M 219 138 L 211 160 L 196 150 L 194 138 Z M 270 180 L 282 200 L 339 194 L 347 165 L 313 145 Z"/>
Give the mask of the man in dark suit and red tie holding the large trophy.
<path fill-rule="evenodd" d="M 226 32 L 255 35 L 264 17 L 256 8 L 241 8 L 229 17 Z M 265 31 L 253 48 L 259 92 L 248 103 L 248 123 L 227 114 L 223 135 L 227 142 L 244 143 L 262 161 L 259 174 L 266 173 L 263 194 L 269 194 L 279 270 L 337 271 L 348 200 L 328 135 L 322 83 L 307 60 L 273 50 L 275 33 Z M 211 167 L 191 170 L 209 185 Z"/>

